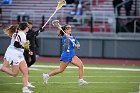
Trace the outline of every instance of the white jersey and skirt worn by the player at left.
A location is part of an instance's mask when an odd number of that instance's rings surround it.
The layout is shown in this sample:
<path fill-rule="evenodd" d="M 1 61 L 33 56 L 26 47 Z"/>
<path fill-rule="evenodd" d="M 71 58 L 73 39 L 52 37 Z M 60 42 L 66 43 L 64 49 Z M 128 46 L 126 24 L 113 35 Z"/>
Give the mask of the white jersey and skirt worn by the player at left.
<path fill-rule="evenodd" d="M 23 31 L 19 31 L 12 35 L 11 43 L 6 50 L 4 58 L 9 62 L 9 64 L 13 63 L 13 65 L 19 65 L 19 63 L 24 60 L 24 49 L 16 48 L 14 46 L 15 41 L 18 41 L 23 45 L 26 42 L 26 34 Z"/>

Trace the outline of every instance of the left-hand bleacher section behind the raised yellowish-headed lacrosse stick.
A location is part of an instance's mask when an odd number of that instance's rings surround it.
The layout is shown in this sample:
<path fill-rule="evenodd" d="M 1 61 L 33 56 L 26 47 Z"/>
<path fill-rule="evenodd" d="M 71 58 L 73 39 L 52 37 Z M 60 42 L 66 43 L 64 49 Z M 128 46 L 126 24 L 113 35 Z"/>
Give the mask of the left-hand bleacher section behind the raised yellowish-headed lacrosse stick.
<path fill-rule="evenodd" d="M 18 15 L 29 15 L 30 21 L 32 21 L 34 25 L 33 28 L 38 29 L 42 23 L 42 16 L 44 15 L 46 22 L 55 11 L 58 4 L 57 1 L 58 0 L 13 0 L 11 5 L 2 5 L 2 26 L 0 26 L 0 28 L 9 24 L 16 24 Z M 61 24 L 65 24 L 65 16 L 67 16 L 71 9 L 71 7 L 62 7 L 52 19 L 59 19 Z M 46 30 L 51 26 L 50 23 L 45 26 Z"/>

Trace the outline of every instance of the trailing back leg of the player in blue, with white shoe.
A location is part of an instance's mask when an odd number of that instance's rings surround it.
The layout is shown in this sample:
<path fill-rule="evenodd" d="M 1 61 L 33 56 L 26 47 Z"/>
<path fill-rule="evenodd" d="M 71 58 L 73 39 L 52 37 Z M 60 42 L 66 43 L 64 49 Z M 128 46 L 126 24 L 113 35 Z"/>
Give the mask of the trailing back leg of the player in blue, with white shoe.
<path fill-rule="evenodd" d="M 68 64 L 69 64 L 68 62 L 61 61 L 60 62 L 60 67 L 58 69 L 55 69 L 55 70 L 51 71 L 48 74 L 44 74 L 43 73 L 43 80 L 44 80 L 44 82 L 47 84 L 48 83 L 48 79 L 51 76 L 54 76 L 54 75 L 59 74 L 59 73 L 62 73 L 66 69 L 66 67 L 68 66 Z"/>

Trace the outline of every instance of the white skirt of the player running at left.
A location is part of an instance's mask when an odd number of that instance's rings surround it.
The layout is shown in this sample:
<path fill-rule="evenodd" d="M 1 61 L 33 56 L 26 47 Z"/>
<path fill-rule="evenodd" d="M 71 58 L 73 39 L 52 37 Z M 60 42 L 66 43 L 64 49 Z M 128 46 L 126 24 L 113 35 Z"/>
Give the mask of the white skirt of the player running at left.
<path fill-rule="evenodd" d="M 24 59 L 23 52 L 16 50 L 15 48 L 7 48 L 4 58 L 12 65 L 19 65 Z"/>

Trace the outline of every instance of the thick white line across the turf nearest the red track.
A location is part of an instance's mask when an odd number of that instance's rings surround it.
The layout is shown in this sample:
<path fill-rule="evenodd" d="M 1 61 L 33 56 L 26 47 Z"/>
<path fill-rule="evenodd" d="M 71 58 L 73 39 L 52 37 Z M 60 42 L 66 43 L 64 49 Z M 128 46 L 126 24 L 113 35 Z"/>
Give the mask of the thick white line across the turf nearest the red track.
<path fill-rule="evenodd" d="M 59 66 L 45 66 L 45 65 L 33 65 L 35 68 L 59 68 Z M 67 68 L 78 68 L 76 66 L 68 66 Z M 31 69 L 31 68 L 30 68 Z M 117 71 L 140 71 L 140 69 L 136 68 L 109 68 L 109 67 L 84 67 L 84 69 L 89 70 L 117 70 Z"/>

